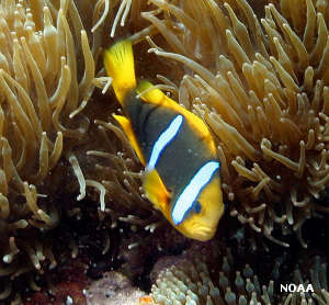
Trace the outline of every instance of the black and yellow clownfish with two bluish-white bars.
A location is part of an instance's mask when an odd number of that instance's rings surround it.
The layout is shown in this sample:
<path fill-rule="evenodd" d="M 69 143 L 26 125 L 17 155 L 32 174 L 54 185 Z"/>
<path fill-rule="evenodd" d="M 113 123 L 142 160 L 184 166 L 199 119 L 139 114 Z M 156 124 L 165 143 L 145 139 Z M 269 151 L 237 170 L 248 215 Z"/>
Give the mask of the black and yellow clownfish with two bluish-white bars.
<path fill-rule="evenodd" d="M 189 238 L 211 239 L 224 212 L 218 157 L 206 124 L 150 82 L 135 77 L 133 46 L 104 52 L 123 115 L 113 114 L 145 166 L 146 196 Z"/>

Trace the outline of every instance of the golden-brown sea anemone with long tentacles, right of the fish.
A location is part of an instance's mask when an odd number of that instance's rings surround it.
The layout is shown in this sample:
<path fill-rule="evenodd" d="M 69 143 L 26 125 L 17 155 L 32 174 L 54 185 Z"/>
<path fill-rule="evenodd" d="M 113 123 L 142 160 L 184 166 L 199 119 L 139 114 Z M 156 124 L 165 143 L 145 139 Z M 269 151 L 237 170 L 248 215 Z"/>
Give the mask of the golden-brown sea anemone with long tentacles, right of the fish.
<path fill-rule="evenodd" d="M 273 1 L 259 19 L 246 0 L 150 2 L 141 15 L 166 43 L 147 37 L 149 52 L 184 74 L 160 86 L 213 131 L 230 215 L 306 247 L 303 224 L 328 212 L 328 4 Z"/>

